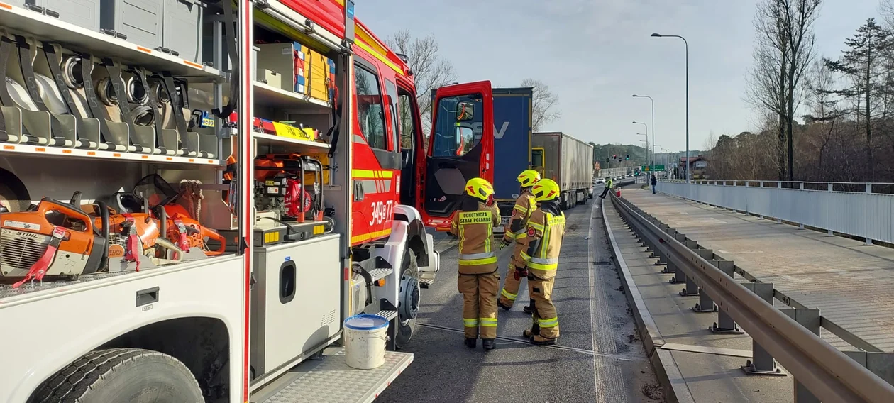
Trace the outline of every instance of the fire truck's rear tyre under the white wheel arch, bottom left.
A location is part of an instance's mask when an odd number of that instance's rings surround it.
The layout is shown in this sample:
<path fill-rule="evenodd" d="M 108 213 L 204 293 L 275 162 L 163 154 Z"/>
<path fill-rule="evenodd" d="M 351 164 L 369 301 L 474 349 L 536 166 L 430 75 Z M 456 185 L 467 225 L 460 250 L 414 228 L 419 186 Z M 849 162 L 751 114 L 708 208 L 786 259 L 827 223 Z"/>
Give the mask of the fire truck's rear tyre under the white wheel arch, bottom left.
<path fill-rule="evenodd" d="M 202 402 L 196 377 L 177 358 L 141 348 L 90 351 L 46 380 L 29 403 Z"/>

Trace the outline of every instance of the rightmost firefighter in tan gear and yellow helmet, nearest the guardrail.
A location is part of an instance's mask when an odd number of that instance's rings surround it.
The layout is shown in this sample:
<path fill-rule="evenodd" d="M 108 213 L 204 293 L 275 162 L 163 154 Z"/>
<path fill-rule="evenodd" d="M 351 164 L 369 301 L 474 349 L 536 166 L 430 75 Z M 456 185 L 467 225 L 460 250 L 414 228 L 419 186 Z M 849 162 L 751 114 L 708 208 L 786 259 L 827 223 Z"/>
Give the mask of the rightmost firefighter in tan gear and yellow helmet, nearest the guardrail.
<path fill-rule="evenodd" d="M 559 209 L 559 185 L 555 181 L 537 181 L 531 193 L 539 206 L 527 220 L 527 248 L 521 254 L 525 265 L 515 269 L 519 276 L 527 276 L 531 294 L 533 323 L 524 335 L 531 344 L 553 345 L 559 339 L 559 315 L 552 303 L 552 285 L 565 235 L 565 214 Z"/>

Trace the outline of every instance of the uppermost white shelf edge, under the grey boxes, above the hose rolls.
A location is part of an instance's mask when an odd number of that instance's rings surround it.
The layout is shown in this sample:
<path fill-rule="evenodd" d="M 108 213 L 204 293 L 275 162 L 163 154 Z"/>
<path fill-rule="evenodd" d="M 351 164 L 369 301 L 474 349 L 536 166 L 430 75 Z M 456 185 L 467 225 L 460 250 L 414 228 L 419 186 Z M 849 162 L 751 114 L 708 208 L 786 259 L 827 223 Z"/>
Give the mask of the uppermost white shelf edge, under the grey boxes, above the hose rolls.
<path fill-rule="evenodd" d="M 220 71 L 213 67 L 193 63 L 121 38 L 83 29 L 47 15 L 5 3 L 0 3 L 0 27 L 9 29 L 10 33 L 27 33 L 41 40 L 58 42 L 63 47 L 74 46 L 78 50 L 94 52 L 101 49 L 103 57 L 119 58 L 122 63 L 137 64 L 146 67 L 149 71 L 171 71 L 175 76 L 187 77 L 219 77 L 221 75 Z"/>

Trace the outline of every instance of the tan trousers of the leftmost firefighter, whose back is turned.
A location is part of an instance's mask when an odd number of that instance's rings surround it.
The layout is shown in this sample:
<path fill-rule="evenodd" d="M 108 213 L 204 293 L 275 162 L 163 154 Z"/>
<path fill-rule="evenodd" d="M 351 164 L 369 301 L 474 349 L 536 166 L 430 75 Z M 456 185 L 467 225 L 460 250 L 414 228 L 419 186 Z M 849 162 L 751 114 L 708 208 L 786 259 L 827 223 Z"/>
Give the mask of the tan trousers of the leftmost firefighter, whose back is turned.
<path fill-rule="evenodd" d="M 500 275 L 496 272 L 460 273 L 457 286 L 462 293 L 462 323 L 466 338 L 477 339 L 480 335 L 482 339 L 495 339 Z"/>

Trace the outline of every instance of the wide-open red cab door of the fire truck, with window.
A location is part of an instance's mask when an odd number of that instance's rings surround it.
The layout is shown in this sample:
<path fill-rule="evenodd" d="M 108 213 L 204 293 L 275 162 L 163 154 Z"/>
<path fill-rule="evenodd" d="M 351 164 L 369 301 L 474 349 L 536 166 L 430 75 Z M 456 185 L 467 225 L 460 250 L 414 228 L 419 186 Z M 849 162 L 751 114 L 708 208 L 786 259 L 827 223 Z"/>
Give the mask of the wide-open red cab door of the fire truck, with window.
<path fill-rule="evenodd" d="M 480 133 L 480 134 L 479 134 Z M 417 209 L 426 226 L 450 228 L 466 182 L 493 182 L 493 90 L 490 81 L 438 88 L 426 155 L 417 158 Z"/>

